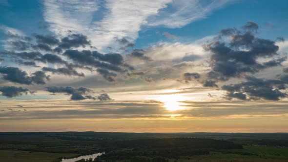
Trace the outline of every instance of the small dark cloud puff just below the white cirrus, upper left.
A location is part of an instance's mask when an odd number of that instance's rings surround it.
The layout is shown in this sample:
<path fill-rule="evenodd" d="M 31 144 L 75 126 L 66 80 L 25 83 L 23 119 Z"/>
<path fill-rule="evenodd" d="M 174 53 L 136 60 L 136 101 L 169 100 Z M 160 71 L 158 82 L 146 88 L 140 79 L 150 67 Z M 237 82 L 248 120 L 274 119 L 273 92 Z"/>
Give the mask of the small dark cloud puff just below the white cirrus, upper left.
<path fill-rule="evenodd" d="M 71 34 L 61 40 L 59 47 L 63 49 L 70 49 L 72 47 L 86 47 L 86 45 L 91 45 L 86 36 L 82 34 Z"/>

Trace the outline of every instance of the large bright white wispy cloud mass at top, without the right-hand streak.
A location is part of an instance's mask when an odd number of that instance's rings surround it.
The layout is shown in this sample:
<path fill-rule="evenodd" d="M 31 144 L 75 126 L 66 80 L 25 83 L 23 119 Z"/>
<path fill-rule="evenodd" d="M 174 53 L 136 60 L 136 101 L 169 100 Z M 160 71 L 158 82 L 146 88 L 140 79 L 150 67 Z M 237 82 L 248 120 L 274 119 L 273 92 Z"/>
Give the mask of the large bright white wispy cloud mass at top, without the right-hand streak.
<path fill-rule="evenodd" d="M 46 0 L 44 19 L 56 34 L 62 35 L 68 30 L 83 33 L 101 49 L 115 42 L 115 38 L 137 39 L 146 18 L 157 14 L 167 2 L 170 0 L 106 0 L 102 6 L 102 10 L 107 10 L 105 15 L 94 21 L 93 14 L 99 7 L 95 0 Z"/>

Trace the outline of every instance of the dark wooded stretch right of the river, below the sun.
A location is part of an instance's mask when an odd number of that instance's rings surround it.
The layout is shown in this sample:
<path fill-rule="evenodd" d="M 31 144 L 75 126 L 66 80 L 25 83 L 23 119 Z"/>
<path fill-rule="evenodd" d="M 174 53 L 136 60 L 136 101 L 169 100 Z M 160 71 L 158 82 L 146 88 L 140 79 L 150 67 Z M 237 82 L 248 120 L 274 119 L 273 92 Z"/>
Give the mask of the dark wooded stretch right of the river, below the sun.
<path fill-rule="evenodd" d="M 102 160 L 130 160 L 132 157 L 163 157 L 178 159 L 180 156 L 209 154 L 210 150 L 241 149 L 240 144 L 213 139 L 170 138 L 118 141 L 107 143 Z M 152 160 L 151 159 L 151 160 Z"/>

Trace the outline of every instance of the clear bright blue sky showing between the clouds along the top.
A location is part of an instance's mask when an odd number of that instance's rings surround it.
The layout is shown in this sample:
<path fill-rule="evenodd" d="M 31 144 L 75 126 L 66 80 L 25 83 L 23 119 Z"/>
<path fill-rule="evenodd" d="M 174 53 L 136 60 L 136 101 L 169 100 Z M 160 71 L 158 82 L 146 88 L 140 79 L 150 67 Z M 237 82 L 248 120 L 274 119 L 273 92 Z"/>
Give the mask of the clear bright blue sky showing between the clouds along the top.
<path fill-rule="evenodd" d="M 40 28 L 43 19 L 41 0 L 8 0 L 9 5 L 0 5 L 0 24 L 21 30 L 28 36 L 33 33 L 47 34 Z M 100 0 L 101 9 L 94 14 L 93 20 L 101 20 L 107 9 L 104 0 Z M 288 0 L 238 0 L 209 14 L 206 19 L 197 20 L 182 28 L 143 27 L 139 32 L 135 48 L 144 48 L 149 44 L 167 40 L 163 32 L 176 35 L 177 41 L 194 41 L 217 34 L 221 29 L 240 27 L 247 21 L 260 26 L 259 37 L 276 39 L 288 38 Z M 3 39 L 3 33 L 0 33 Z M 1 47 L 0 47 L 1 49 Z"/>

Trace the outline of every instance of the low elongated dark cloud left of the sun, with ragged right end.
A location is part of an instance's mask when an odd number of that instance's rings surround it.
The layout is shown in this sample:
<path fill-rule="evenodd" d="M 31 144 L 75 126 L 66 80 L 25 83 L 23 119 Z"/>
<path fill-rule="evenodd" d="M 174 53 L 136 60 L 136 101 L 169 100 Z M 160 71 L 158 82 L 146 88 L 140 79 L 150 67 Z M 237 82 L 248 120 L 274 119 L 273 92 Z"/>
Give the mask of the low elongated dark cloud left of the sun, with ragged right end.
<path fill-rule="evenodd" d="M 93 92 L 92 90 L 85 88 L 85 87 L 79 87 L 79 88 L 73 88 L 73 87 L 56 87 L 56 86 L 49 86 L 46 87 L 46 90 L 51 93 L 66 93 L 71 95 L 71 100 L 85 100 L 88 99 L 84 97 L 83 95 Z"/>

